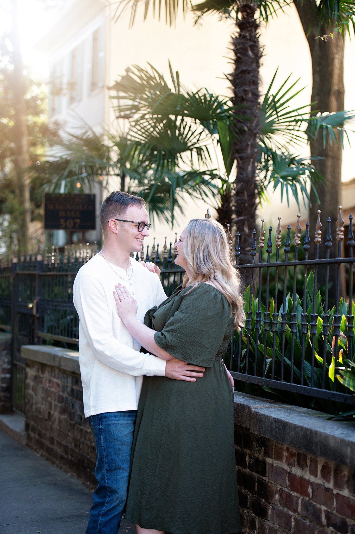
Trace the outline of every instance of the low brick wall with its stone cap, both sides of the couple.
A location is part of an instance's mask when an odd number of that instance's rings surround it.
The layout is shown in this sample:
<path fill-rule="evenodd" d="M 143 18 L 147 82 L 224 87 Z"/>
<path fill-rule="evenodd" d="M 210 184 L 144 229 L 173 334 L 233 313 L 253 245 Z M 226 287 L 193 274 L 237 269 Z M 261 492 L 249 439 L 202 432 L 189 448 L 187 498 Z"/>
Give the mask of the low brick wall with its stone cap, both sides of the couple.
<path fill-rule="evenodd" d="M 42 345 L 22 347 L 21 355 L 27 358 L 27 444 L 94 488 L 95 444 L 84 417 L 77 352 Z M 235 396 L 244 534 L 355 534 L 353 425 L 326 419 Z"/>

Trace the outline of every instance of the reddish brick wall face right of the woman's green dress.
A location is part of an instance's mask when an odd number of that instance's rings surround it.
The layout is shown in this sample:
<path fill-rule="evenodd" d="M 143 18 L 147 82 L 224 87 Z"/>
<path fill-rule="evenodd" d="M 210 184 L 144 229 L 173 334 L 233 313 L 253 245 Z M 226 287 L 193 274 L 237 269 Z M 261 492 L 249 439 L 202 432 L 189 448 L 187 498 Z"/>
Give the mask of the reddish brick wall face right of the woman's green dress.
<path fill-rule="evenodd" d="M 244 534 L 355 534 L 353 469 L 237 425 L 235 443 Z"/>

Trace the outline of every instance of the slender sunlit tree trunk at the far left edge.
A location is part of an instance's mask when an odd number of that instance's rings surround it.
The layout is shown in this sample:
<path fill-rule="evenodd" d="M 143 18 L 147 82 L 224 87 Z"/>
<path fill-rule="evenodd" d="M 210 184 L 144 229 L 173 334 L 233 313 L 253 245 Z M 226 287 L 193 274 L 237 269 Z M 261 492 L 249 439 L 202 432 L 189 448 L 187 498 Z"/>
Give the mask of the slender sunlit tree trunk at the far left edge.
<path fill-rule="evenodd" d="M 12 28 L 11 43 L 13 46 L 13 108 L 14 108 L 14 172 L 17 198 L 20 206 L 18 221 L 18 243 L 21 252 L 29 250 L 29 230 L 31 222 L 31 203 L 29 180 L 23 173 L 28 166 L 28 132 L 27 132 L 27 108 L 26 86 L 23 77 L 23 65 L 20 52 L 20 36 L 18 23 L 18 0 L 11 0 Z"/>

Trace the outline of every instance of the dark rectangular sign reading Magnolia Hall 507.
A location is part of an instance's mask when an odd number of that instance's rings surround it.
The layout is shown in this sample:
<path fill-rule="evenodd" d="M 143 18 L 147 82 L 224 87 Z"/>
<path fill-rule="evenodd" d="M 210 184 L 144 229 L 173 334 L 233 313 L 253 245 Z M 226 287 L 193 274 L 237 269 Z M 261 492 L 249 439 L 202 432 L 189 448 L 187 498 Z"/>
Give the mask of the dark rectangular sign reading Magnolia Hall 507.
<path fill-rule="evenodd" d="M 45 194 L 45 230 L 95 230 L 95 195 Z"/>

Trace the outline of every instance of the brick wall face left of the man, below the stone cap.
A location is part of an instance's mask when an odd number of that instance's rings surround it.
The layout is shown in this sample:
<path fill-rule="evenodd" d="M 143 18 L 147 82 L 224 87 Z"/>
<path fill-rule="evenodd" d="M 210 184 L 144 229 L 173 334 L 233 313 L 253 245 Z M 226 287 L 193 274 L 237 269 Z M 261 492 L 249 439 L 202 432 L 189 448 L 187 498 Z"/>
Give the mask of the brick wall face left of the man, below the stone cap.
<path fill-rule="evenodd" d="M 94 488 L 95 442 L 80 375 L 30 360 L 26 367 L 27 445 Z"/>

